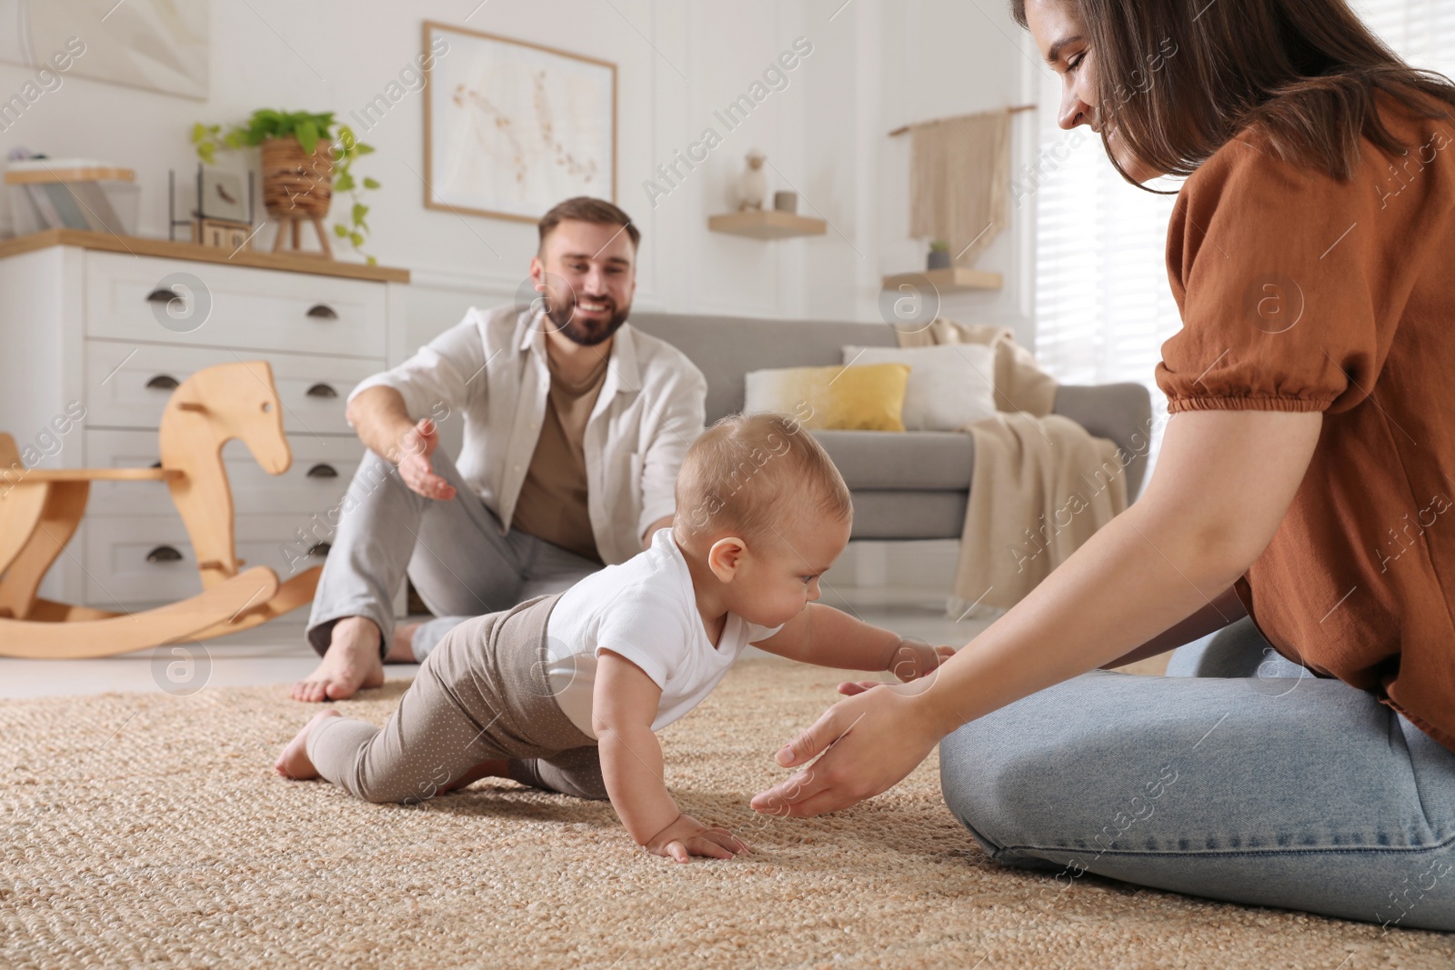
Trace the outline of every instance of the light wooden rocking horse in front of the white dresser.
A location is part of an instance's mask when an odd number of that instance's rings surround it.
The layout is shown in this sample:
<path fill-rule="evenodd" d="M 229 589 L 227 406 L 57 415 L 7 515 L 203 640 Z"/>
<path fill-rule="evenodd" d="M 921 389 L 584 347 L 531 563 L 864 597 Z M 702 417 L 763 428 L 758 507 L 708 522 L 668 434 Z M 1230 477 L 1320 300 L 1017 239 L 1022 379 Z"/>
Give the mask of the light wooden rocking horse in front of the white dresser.
<path fill-rule="evenodd" d="M 153 468 L 25 468 L 0 433 L 0 654 L 105 657 L 247 630 L 313 599 L 322 566 L 287 583 L 266 566 L 239 572 L 233 493 L 223 445 L 242 438 L 269 474 L 292 464 L 282 403 L 265 361 L 221 364 L 185 380 L 162 416 Z M 38 598 L 51 563 L 86 512 L 92 481 L 166 481 L 182 515 L 202 592 L 143 612 L 108 612 Z"/>

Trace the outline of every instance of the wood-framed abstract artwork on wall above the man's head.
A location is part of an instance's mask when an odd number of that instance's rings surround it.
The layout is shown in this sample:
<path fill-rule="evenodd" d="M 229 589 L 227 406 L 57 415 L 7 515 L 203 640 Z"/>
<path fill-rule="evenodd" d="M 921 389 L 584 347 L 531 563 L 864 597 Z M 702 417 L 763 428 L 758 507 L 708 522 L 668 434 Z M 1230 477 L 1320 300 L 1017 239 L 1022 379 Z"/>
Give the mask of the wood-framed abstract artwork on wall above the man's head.
<path fill-rule="evenodd" d="M 617 201 L 617 65 L 425 22 L 425 208 L 535 223 Z"/>

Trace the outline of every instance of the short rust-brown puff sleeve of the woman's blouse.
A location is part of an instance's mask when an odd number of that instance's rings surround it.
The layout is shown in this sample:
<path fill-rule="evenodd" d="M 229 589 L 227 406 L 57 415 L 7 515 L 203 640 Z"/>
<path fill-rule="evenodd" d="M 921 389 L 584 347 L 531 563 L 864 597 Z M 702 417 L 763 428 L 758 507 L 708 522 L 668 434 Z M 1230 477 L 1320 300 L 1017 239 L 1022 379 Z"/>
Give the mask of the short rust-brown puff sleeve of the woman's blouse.
<path fill-rule="evenodd" d="M 1397 320 L 1379 195 L 1240 137 L 1195 172 L 1167 233 L 1183 327 L 1163 345 L 1170 412 L 1342 412 L 1374 388 Z M 1381 330 L 1385 336 L 1381 337 Z"/>

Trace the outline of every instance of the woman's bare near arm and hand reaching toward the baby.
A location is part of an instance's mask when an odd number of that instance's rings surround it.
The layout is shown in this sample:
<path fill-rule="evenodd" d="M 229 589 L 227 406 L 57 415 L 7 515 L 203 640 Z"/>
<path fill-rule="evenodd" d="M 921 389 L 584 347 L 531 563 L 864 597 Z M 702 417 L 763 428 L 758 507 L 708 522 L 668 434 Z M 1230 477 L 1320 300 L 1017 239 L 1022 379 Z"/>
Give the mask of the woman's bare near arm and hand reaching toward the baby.
<path fill-rule="evenodd" d="M 778 752 L 803 765 L 754 809 L 819 814 L 908 775 L 960 724 L 1148 643 L 1227 590 L 1283 521 L 1318 412 L 1208 410 L 1167 425 L 1147 494 L 918 689 L 840 701 Z M 828 750 L 832 747 L 832 750 Z"/>

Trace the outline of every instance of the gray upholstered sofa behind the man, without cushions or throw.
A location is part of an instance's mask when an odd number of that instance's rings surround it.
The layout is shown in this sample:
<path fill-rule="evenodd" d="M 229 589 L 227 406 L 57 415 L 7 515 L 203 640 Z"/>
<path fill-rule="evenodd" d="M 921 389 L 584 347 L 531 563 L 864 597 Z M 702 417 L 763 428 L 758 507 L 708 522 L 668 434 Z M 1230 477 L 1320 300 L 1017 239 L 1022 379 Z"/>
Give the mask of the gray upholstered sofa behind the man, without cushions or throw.
<path fill-rule="evenodd" d="M 883 323 L 773 320 L 634 313 L 631 324 L 679 348 L 707 377 L 707 423 L 741 410 L 744 375 L 781 366 L 824 366 L 842 361 L 841 348 L 895 346 Z M 1128 455 L 1128 497 L 1147 471 L 1145 435 L 1151 396 L 1141 384 L 1062 385 L 1055 413 Z M 957 540 L 965 525 L 975 442 L 960 432 L 818 430 L 854 493 L 856 540 Z"/>

